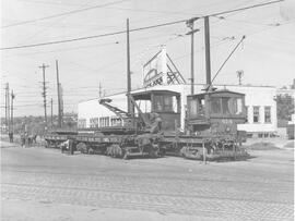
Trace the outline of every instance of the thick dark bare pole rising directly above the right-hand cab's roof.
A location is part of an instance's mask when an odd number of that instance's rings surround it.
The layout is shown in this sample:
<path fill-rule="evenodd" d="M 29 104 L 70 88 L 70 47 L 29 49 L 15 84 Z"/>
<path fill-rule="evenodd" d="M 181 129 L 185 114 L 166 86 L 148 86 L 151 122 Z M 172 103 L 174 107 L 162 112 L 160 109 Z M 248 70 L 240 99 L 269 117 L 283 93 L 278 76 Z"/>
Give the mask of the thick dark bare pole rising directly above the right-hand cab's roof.
<path fill-rule="evenodd" d="M 210 59 L 210 26 L 209 16 L 204 16 L 204 38 L 205 38 L 205 73 L 206 73 L 206 87 L 211 85 L 211 59 Z M 210 89 L 210 88 L 208 88 Z"/>

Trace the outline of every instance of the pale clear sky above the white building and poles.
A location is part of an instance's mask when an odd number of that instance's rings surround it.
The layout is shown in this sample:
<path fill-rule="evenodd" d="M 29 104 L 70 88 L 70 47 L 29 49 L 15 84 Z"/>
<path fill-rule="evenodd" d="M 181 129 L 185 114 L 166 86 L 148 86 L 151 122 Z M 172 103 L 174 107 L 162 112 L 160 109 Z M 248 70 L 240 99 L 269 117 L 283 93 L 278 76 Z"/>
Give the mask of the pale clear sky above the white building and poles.
<path fill-rule="evenodd" d="M 14 115 L 44 114 L 42 81 L 46 69 L 47 102 L 57 113 L 56 60 L 64 111 L 82 100 L 126 90 L 126 34 L 4 49 L 96 36 L 188 20 L 270 0 L 3 0 L 1 1 L 1 115 L 4 87 L 15 94 Z M 203 20 L 194 23 L 194 82 L 205 83 Z M 165 45 L 182 76 L 190 77 L 190 37 L 186 23 L 130 33 L 132 88 L 142 86 L 142 65 Z M 212 75 L 238 44 L 215 84 L 291 85 L 295 78 L 295 0 L 210 17 Z M 50 113 L 50 107 L 47 112 Z"/>

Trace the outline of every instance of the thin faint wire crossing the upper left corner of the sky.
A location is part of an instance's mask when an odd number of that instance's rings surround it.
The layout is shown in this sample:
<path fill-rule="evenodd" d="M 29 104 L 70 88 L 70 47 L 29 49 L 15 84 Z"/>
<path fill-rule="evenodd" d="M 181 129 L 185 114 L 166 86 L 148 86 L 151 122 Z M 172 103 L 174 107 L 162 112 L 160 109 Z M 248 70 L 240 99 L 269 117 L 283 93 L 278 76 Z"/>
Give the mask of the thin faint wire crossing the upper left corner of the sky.
<path fill-rule="evenodd" d="M 88 11 L 88 10 L 92 10 L 92 9 L 104 8 L 104 7 L 108 7 L 108 5 L 111 5 L 111 4 L 121 3 L 123 1 L 127 1 L 127 0 L 113 1 L 113 2 L 109 2 L 109 3 L 105 3 L 105 4 L 88 7 L 88 8 L 84 8 L 84 9 L 78 9 L 78 10 L 73 10 L 73 11 L 69 11 L 69 12 L 64 12 L 64 13 L 60 13 L 60 14 L 54 14 L 54 15 L 50 15 L 50 16 L 39 17 L 39 19 L 36 19 L 36 20 L 28 20 L 28 21 L 24 21 L 24 22 L 13 23 L 13 24 L 10 24 L 10 25 L 2 26 L 1 28 L 7 28 L 7 27 L 13 27 L 13 26 L 19 26 L 19 25 L 35 23 L 35 22 L 39 22 L 39 21 L 45 21 L 45 20 L 49 20 L 49 19 L 64 16 L 64 15 L 68 15 L 68 14 L 74 14 L 74 13 L 79 13 L 79 12 Z"/>

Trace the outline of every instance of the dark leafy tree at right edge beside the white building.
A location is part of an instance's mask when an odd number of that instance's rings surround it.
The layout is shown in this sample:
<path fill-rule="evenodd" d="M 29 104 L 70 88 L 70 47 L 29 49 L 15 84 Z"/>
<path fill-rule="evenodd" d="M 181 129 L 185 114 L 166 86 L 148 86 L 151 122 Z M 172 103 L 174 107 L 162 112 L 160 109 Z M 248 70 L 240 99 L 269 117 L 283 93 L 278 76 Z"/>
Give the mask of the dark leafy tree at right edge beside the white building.
<path fill-rule="evenodd" d="M 290 121 L 294 113 L 294 98 L 290 95 L 276 96 L 276 115 L 278 120 Z"/>

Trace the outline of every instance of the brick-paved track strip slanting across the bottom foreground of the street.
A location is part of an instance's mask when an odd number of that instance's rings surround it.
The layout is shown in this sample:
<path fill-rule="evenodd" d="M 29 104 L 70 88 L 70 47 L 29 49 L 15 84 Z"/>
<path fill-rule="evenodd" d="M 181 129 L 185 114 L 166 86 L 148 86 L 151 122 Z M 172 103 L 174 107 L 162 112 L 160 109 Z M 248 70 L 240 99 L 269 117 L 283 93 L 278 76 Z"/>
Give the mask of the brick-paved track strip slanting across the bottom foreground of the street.
<path fill-rule="evenodd" d="M 202 214 L 215 218 L 288 220 L 292 204 L 182 194 L 151 194 L 121 189 L 91 189 L 2 183 L 2 198 L 19 198 L 105 208 L 150 210 L 163 213 Z"/>

